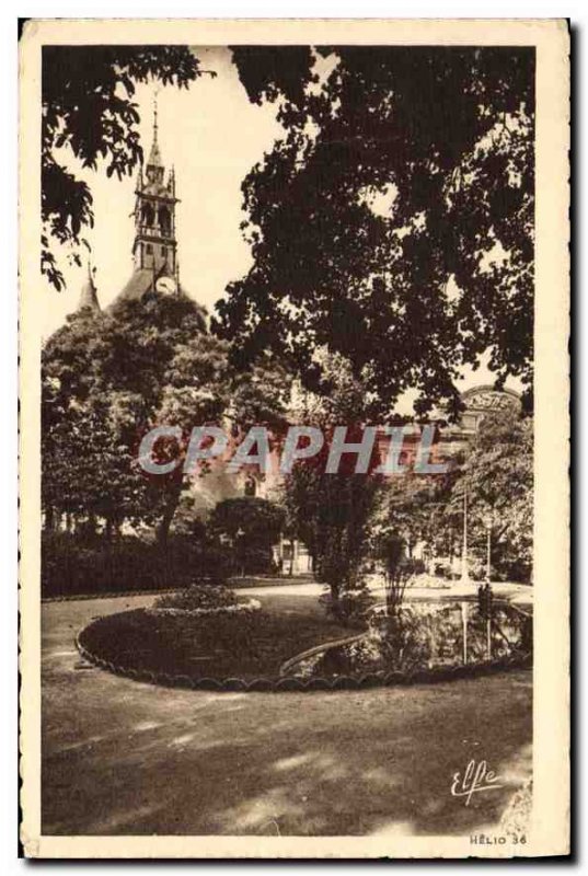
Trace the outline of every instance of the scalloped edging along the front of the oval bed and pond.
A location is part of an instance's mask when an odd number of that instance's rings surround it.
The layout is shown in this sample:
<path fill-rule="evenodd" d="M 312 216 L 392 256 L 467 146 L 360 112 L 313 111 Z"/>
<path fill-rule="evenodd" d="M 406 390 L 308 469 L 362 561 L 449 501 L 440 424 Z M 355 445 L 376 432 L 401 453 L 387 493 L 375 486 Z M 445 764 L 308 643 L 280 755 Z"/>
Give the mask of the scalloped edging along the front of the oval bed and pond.
<path fill-rule="evenodd" d="M 106 615 L 107 616 L 107 615 Z M 99 619 L 94 619 L 99 620 Z M 91 622 L 93 623 L 93 621 Z M 142 681 L 148 684 L 160 684 L 165 688 L 183 688 L 189 690 L 224 692 L 310 692 L 310 691 L 341 691 L 341 690 L 364 690 L 378 687 L 396 687 L 408 684 L 433 684 L 440 681 L 457 681 L 462 678 L 474 678 L 487 676 L 493 672 L 500 672 L 507 669 L 530 669 L 532 667 L 532 656 L 530 654 L 516 655 L 500 660 L 491 660 L 483 664 L 465 664 L 462 666 L 434 667 L 431 669 L 417 669 L 410 671 L 393 672 L 371 672 L 366 676 L 338 676 L 332 678 L 302 678 L 300 676 L 290 677 L 260 677 L 250 681 L 233 677 L 216 679 L 210 677 L 174 676 L 169 672 L 153 672 L 148 669 L 127 669 L 124 666 L 104 660 L 96 654 L 88 650 L 81 642 L 81 636 L 91 624 L 87 624 L 76 636 L 76 647 L 80 656 L 99 669 L 105 669 L 115 676 L 122 676 L 132 681 Z M 318 647 L 324 647 L 318 646 Z M 300 655 L 297 655 L 297 659 Z"/>

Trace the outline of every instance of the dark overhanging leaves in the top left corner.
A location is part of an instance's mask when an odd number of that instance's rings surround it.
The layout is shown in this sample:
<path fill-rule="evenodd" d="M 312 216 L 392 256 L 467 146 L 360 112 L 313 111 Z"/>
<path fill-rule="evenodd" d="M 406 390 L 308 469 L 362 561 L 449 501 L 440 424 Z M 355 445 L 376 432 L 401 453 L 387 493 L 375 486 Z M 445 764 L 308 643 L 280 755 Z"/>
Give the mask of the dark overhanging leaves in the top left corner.
<path fill-rule="evenodd" d="M 79 264 L 82 230 L 93 224 L 90 187 L 61 163 L 58 150 L 68 147 L 92 170 L 103 162 L 108 176 L 129 175 L 142 160 L 136 83 L 187 88 L 201 73 L 183 46 L 43 47 L 42 270 L 56 289 L 65 283 L 50 238 L 72 247 Z"/>

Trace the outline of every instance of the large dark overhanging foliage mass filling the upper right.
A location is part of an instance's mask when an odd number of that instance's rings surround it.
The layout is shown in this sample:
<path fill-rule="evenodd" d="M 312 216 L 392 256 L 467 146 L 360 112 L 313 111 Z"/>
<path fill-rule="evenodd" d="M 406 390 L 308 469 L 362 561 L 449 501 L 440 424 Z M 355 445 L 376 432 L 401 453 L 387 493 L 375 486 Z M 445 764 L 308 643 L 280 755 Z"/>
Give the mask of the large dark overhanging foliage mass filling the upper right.
<path fill-rule="evenodd" d="M 319 80 L 316 57 L 332 61 Z M 285 136 L 243 184 L 254 264 L 218 306 L 235 355 L 287 355 L 328 392 L 318 350 L 367 381 L 373 414 L 460 407 L 489 351 L 531 387 L 532 49 L 240 47 L 251 101 Z M 314 66 L 313 66 L 314 65 Z"/>

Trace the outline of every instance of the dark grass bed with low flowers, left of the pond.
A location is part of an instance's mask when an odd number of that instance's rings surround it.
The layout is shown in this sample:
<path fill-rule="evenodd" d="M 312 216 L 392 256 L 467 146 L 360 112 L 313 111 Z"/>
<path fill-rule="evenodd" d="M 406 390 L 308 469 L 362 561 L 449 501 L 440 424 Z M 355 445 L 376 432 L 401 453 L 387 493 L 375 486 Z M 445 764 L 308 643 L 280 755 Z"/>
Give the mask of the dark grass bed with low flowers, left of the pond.
<path fill-rule="evenodd" d="M 222 597 L 223 598 L 223 597 Z M 208 604 L 212 601 L 207 596 Z M 200 685 L 217 681 L 280 680 L 280 666 L 318 643 L 341 639 L 345 630 L 316 616 L 274 614 L 256 600 L 224 607 L 201 606 L 200 595 L 161 598 L 152 608 L 99 618 L 78 636 L 78 647 L 92 662 L 148 681 Z M 210 687 L 215 687 L 210 684 Z"/>

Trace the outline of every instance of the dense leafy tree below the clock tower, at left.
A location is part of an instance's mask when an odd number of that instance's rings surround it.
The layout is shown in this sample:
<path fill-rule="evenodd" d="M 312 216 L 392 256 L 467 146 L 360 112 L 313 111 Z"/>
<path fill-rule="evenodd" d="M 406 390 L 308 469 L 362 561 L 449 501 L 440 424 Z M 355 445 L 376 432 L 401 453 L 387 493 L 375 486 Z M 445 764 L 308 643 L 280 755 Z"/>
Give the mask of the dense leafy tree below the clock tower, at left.
<path fill-rule="evenodd" d="M 206 331 L 203 310 L 184 295 L 152 293 L 102 314 L 81 311 L 43 351 L 43 499 L 48 515 L 157 526 L 162 543 L 191 477 L 183 472 L 195 426 L 237 417 L 276 422 L 288 399 L 279 368 L 266 393 L 261 362 L 247 373 L 229 362 L 228 345 Z M 244 407 L 242 400 L 246 399 Z M 260 420 L 258 420 L 260 422 Z M 262 423 L 264 420 L 261 420 Z M 140 440 L 177 425 L 180 446 L 157 446 L 159 461 L 178 458 L 168 475 L 147 475 Z M 161 442 L 160 442 L 161 443 Z"/>

